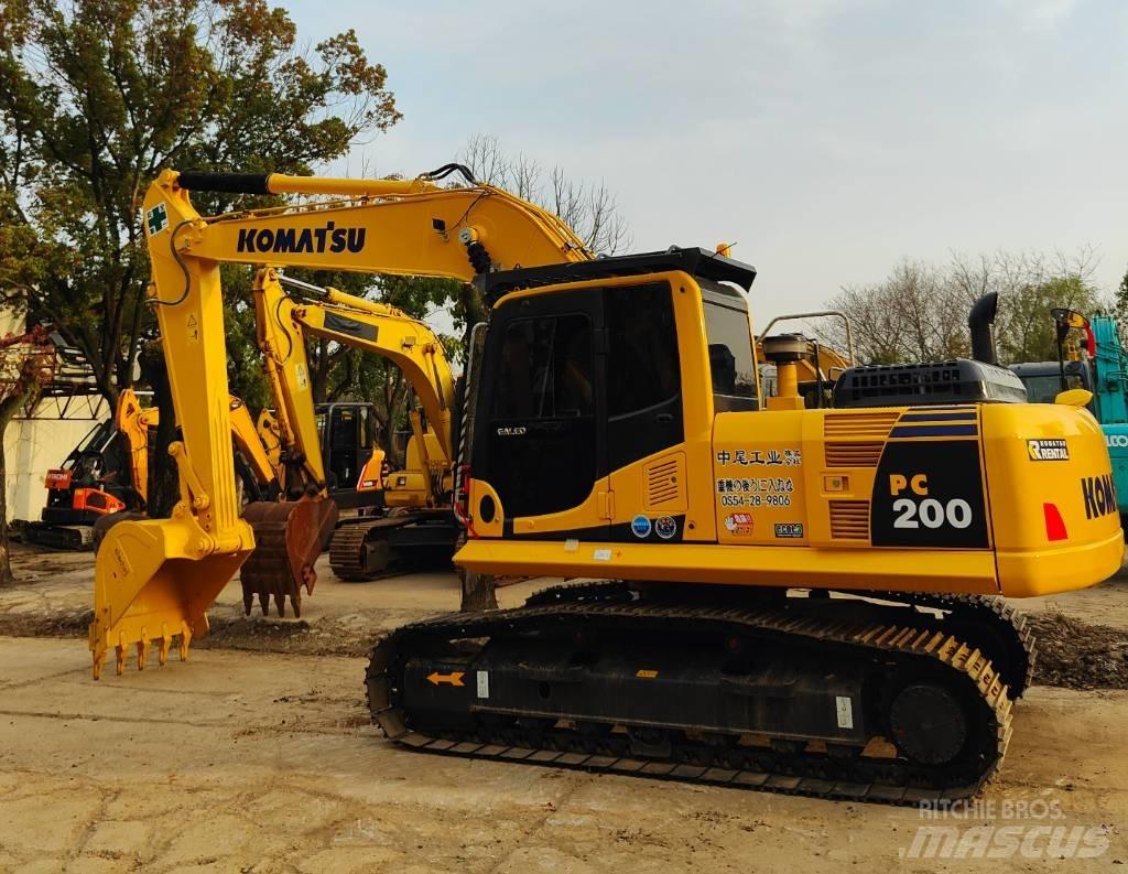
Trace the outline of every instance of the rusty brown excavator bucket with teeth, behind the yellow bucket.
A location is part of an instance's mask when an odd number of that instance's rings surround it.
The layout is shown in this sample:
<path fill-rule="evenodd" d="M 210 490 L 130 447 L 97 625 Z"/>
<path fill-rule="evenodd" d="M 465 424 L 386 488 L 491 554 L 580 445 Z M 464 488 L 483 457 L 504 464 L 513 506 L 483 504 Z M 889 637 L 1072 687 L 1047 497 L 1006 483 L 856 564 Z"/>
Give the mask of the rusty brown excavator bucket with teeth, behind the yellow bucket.
<path fill-rule="evenodd" d="M 255 551 L 239 575 L 243 582 L 243 609 L 258 596 L 263 615 L 270 612 L 271 598 L 280 617 L 285 615 L 290 598 L 296 617 L 301 615 L 301 589 L 314 591 L 317 575 L 314 563 L 337 524 L 337 505 L 327 498 L 255 501 L 243 518 L 255 532 Z"/>

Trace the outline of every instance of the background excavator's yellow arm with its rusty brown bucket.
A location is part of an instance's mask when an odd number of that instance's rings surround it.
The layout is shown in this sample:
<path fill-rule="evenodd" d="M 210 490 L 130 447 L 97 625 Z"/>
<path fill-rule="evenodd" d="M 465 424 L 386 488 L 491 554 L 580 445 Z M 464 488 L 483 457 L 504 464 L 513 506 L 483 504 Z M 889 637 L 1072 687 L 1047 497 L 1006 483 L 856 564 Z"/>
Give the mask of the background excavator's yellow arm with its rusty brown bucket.
<path fill-rule="evenodd" d="M 283 285 L 294 288 L 306 299 L 296 300 Z M 349 557 L 347 567 L 363 563 L 369 554 L 369 535 L 379 539 L 389 527 L 378 519 L 363 525 L 352 521 L 344 540 L 338 541 L 333 534 L 337 506 L 332 499 L 328 487 L 333 484 L 327 482 L 326 460 L 321 454 L 309 378 L 308 341 L 329 340 L 390 359 L 406 375 L 420 400 L 428 427 L 422 425 L 418 412 L 413 411 L 415 436 L 408 444 L 408 460 L 417 455 L 423 462 L 409 463 L 412 470 L 396 477 L 393 486 L 386 488 L 386 501 L 397 507 L 433 508 L 449 504 L 446 496 L 452 483 L 453 379 L 442 344 L 431 329 L 395 307 L 291 279 L 274 268 L 261 269 L 253 288 L 258 344 L 274 396 L 283 490 L 298 500 L 258 502 L 244 513 L 256 540 L 255 552 L 240 574 L 244 606 L 249 612 L 257 596 L 265 612 L 273 598 L 281 613 L 284 600 L 289 598 L 297 612 L 301 605 L 300 588 L 312 591 L 317 579 L 314 566 L 331 535 L 334 557 L 331 563 L 341 576 L 342 556 Z M 429 452 L 431 443 L 435 444 L 433 452 Z M 358 489 L 364 482 L 376 488 L 381 481 L 382 453 L 379 455 L 370 460 L 374 466 L 358 480 Z M 393 525 L 405 522 L 405 517 L 399 517 Z"/>

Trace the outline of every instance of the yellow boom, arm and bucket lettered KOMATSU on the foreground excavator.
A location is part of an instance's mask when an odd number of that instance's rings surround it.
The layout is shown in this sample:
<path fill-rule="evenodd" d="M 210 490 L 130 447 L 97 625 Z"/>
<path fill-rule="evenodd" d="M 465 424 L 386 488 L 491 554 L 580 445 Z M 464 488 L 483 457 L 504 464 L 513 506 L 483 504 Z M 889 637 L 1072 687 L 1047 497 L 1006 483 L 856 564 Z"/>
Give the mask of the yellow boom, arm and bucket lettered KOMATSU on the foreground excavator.
<path fill-rule="evenodd" d="M 453 172 L 469 184 L 435 184 Z M 204 218 L 192 207 L 193 189 L 310 199 Z M 558 218 L 501 189 L 473 183 L 457 165 L 408 181 L 164 171 L 147 192 L 143 211 L 152 264 L 149 301 L 183 431 L 183 439 L 169 446 L 180 500 L 171 518 L 123 522 L 103 542 L 89 632 L 96 678 L 111 648 L 118 671 L 131 647 L 143 667 L 153 643 L 164 663 L 176 638 L 186 658 L 192 637 L 206 631 L 208 608 L 255 547 L 250 525 L 239 516 L 231 475 L 222 263 L 472 281 L 500 266 L 591 259 Z M 345 317 L 356 322 L 361 309 Z M 331 314 L 341 317 L 334 309 L 307 309 L 309 329 L 356 339 L 334 329 L 333 318 L 326 318 Z M 444 396 L 448 418 L 439 408 L 433 420 L 437 435 L 446 431 L 441 445 L 448 456 L 450 400 Z"/>

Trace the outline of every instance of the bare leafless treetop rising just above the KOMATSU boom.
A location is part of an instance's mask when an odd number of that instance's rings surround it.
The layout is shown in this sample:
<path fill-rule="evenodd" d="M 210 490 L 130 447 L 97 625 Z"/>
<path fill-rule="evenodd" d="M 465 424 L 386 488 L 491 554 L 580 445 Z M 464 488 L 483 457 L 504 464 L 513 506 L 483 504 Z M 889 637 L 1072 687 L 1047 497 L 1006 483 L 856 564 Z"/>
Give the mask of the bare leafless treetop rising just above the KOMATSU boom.
<path fill-rule="evenodd" d="M 626 220 L 615 194 L 602 181 L 578 181 L 559 166 L 546 172 L 535 158 L 523 152 L 510 155 L 496 137 L 481 133 L 467 141 L 458 159 L 479 182 L 555 212 L 592 252 L 614 255 L 631 246 Z"/>

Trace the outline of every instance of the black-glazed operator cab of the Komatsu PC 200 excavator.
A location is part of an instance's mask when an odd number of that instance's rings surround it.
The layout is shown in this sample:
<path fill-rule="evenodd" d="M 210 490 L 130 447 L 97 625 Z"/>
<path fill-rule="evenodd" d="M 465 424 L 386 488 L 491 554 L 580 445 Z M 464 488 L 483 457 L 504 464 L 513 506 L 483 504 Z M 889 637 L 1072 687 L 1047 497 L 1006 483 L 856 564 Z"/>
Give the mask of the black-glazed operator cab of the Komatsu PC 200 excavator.
<path fill-rule="evenodd" d="M 493 493 L 473 508 L 476 519 L 503 518 L 509 534 L 515 518 L 585 507 L 576 531 L 605 539 L 607 483 L 667 452 L 677 482 L 663 507 L 684 504 L 686 460 L 676 451 L 687 431 L 719 412 L 759 409 L 742 292 L 755 277 L 700 248 L 486 274 L 493 314 L 472 466 Z M 679 335 L 679 325 L 700 324 L 705 338 Z M 684 383 L 711 385 L 712 403 L 685 396 Z M 662 475 L 655 499 L 670 490 Z M 589 507 L 600 493 L 605 506 Z"/>

